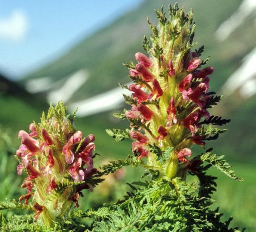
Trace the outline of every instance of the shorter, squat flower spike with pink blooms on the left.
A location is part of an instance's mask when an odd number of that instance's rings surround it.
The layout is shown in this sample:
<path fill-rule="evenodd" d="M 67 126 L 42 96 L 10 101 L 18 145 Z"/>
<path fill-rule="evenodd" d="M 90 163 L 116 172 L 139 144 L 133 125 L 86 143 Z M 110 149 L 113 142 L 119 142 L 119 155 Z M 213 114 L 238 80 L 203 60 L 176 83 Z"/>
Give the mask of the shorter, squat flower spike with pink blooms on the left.
<path fill-rule="evenodd" d="M 36 210 L 35 218 L 50 225 L 56 217 L 63 216 L 72 203 L 78 205 L 82 189 L 93 189 L 89 183 L 96 173 L 93 168 L 93 134 L 83 138 L 80 131 L 73 126 L 73 118 L 66 117 L 63 103 L 50 106 L 47 118 L 44 114 L 41 123 L 31 123 L 30 133 L 21 130 L 21 146 L 16 151 L 20 164 L 17 172 L 25 170 L 28 176 L 22 188 L 27 194 L 25 204 L 33 198 Z"/>

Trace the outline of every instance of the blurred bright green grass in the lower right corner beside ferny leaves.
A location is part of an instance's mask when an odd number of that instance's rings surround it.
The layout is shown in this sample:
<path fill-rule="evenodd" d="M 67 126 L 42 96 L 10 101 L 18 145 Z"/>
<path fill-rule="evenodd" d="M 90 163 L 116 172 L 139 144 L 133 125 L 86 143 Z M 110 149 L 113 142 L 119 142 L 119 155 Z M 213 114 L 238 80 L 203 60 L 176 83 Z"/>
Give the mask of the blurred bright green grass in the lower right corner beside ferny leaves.
<path fill-rule="evenodd" d="M 229 179 L 223 173 L 211 168 L 209 173 L 217 176 L 217 191 L 213 194 L 216 202 L 214 207 L 219 207 L 219 211 L 224 213 L 223 219 L 229 216 L 234 217 L 232 226 L 239 228 L 246 227 L 246 231 L 256 231 L 256 185 L 255 185 L 255 165 L 252 163 L 233 163 L 235 173 L 243 177 L 243 182 L 236 182 Z"/>

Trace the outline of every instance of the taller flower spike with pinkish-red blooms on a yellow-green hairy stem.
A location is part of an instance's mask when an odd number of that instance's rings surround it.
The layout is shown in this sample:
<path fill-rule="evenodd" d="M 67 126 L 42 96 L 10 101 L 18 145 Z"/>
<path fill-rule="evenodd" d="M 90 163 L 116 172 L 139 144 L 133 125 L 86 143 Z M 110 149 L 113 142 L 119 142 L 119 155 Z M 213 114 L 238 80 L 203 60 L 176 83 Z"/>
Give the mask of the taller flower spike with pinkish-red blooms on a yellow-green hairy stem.
<path fill-rule="evenodd" d="M 213 68 L 201 68 L 206 64 L 199 58 L 203 47 L 191 51 L 192 12 L 185 15 L 175 5 L 169 13 L 168 21 L 163 9 L 157 11 L 158 27 L 149 23 L 152 46 L 145 37 L 143 44 L 149 57 L 138 52 L 138 63 L 126 65 L 134 83 L 127 87 L 132 97 L 126 97 L 132 109 L 124 116 L 131 122 L 129 136 L 137 158 L 147 157 L 148 167 L 171 178 L 181 167 L 193 169 L 188 160 L 191 146 L 204 147 L 204 139 L 217 131 L 202 127 L 210 123 L 207 108 L 214 105 L 213 93 L 208 92 Z"/>

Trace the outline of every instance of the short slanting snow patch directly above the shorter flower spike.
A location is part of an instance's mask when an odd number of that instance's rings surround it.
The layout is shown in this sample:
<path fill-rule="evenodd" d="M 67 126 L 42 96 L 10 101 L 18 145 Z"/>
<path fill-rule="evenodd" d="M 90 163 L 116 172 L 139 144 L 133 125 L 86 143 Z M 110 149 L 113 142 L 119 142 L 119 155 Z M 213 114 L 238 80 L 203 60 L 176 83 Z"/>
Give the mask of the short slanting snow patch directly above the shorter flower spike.
<path fill-rule="evenodd" d="M 47 101 L 53 104 L 56 104 L 59 100 L 67 102 L 87 79 L 88 74 L 84 69 L 75 72 L 61 88 L 55 89 L 47 95 Z"/>

